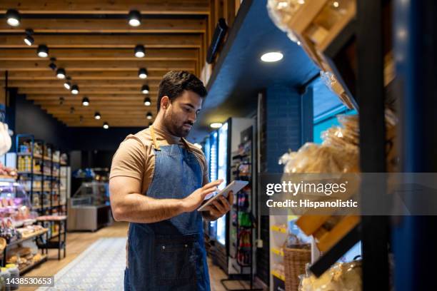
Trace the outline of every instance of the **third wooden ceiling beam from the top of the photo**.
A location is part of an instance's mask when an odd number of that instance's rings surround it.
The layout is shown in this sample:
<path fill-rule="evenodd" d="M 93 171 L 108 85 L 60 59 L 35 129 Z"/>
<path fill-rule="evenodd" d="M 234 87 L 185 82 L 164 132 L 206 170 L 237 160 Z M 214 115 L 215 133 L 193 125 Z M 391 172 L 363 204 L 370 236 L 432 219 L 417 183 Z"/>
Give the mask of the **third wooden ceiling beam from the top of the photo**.
<path fill-rule="evenodd" d="M 37 34 L 36 44 L 46 44 L 50 48 L 131 48 L 137 44 L 147 48 L 200 48 L 201 34 Z M 22 35 L 0 35 L 0 48 L 29 48 Z M 50 52 L 49 52 L 50 53 Z"/>

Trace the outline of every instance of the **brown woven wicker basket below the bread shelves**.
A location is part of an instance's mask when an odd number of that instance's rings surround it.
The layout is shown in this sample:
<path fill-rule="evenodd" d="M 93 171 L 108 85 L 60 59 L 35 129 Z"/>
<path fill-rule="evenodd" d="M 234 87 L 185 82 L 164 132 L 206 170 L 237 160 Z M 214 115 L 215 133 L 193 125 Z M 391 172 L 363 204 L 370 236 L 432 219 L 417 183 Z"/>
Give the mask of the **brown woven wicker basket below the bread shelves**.
<path fill-rule="evenodd" d="M 283 248 L 283 266 L 286 291 L 298 291 L 299 275 L 305 274 L 305 267 L 311 262 L 311 250 L 308 248 Z"/>

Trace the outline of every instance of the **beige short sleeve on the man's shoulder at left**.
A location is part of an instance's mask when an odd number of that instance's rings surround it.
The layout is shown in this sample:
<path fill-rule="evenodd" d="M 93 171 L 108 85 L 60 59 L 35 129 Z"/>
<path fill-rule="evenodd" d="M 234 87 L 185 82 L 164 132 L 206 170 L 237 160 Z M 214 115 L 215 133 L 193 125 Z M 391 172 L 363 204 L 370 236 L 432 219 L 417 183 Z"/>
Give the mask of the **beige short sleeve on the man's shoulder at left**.
<path fill-rule="evenodd" d="M 126 176 L 142 180 L 145 166 L 144 145 L 138 138 L 126 138 L 112 158 L 110 178 Z"/>

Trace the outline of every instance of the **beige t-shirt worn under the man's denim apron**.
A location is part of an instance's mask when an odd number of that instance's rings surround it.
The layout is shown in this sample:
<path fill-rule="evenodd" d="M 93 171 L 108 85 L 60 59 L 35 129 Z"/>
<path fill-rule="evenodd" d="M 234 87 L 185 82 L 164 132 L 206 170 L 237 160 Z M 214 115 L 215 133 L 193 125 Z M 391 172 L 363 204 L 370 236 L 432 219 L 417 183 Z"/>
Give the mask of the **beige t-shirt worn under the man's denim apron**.
<path fill-rule="evenodd" d="M 159 146 L 169 146 L 171 144 L 179 144 L 184 146 L 181 138 L 171 136 L 171 134 L 154 125 L 154 133 L 156 141 Z M 209 183 L 208 167 L 206 165 L 205 155 L 201 149 L 189 143 L 189 148 L 196 158 L 198 158 L 201 165 L 203 178 L 203 185 Z M 141 180 L 141 193 L 146 195 L 147 189 L 154 177 L 155 169 L 155 154 L 152 145 L 152 137 L 150 128 L 139 131 L 135 135 L 129 135 L 120 144 L 112 158 L 111 174 L 109 178 L 117 176 L 126 176 Z"/>

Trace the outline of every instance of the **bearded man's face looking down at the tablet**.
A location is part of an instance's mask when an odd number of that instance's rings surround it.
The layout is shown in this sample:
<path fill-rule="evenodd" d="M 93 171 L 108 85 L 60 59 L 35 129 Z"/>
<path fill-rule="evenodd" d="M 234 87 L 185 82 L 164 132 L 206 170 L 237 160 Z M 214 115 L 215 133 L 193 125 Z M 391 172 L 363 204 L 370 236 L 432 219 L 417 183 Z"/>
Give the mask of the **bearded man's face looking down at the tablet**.
<path fill-rule="evenodd" d="M 202 107 L 202 98 L 193 91 L 184 91 L 181 96 L 168 102 L 164 110 L 164 124 L 173 136 L 186 137 L 196 122 Z"/>

